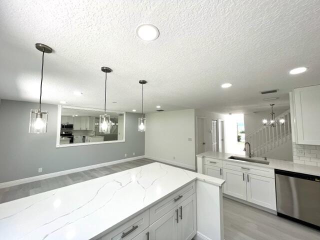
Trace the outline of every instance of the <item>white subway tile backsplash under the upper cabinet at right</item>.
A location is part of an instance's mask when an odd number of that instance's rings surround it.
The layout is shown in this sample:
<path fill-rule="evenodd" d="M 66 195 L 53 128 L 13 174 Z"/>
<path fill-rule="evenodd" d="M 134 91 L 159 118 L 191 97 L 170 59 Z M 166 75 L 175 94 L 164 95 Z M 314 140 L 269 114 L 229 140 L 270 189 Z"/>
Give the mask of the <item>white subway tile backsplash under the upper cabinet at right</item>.
<path fill-rule="evenodd" d="M 303 145 L 292 142 L 293 162 L 320 166 L 320 146 Z"/>

